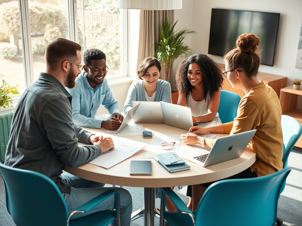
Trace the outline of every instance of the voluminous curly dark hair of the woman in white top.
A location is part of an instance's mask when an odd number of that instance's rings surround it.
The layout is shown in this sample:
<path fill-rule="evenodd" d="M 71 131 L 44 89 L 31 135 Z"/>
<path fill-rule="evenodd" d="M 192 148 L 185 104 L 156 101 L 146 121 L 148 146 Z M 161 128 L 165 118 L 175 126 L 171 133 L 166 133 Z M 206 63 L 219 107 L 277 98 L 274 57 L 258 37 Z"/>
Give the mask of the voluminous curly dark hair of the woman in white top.
<path fill-rule="evenodd" d="M 219 65 L 205 54 L 194 54 L 183 59 L 176 71 L 176 86 L 179 91 L 185 93 L 186 97 L 192 91 L 193 86 L 188 79 L 188 67 L 192 63 L 197 63 L 202 71 L 202 80 L 204 85 L 204 101 L 207 101 L 207 95 L 213 96 L 223 85 L 222 72 Z"/>

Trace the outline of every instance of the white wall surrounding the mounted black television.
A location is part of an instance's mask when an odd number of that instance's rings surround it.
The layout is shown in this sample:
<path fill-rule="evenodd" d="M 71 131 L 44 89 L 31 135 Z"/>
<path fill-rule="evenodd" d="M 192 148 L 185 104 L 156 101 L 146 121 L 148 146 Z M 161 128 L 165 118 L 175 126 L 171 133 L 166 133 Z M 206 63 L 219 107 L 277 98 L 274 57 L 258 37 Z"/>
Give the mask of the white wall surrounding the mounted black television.
<path fill-rule="evenodd" d="M 280 13 L 274 66 L 261 65 L 259 71 L 288 77 L 287 86 L 291 85 L 294 78 L 302 78 L 302 69 L 295 68 L 302 21 L 301 0 L 184 0 L 182 4 L 183 9 L 175 10 L 178 28 L 186 27 L 197 31 L 198 34 L 190 35 L 191 40 L 186 42 L 194 52 L 204 54 L 208 51 L 212 8 Z M 224 63 L 223 57 L 215 55 L 211 57 L 219 63 Z M 177 65 L 175 61 L 174 74 Z"/>

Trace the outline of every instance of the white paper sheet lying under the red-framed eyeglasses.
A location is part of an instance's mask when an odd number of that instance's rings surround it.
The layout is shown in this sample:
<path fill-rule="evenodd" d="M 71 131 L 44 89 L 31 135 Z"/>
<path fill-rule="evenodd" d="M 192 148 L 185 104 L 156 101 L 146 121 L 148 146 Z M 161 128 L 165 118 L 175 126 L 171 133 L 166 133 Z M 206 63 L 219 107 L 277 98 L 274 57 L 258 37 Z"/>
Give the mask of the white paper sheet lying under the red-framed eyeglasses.
<path fill-rule="evenodd" d="M 153 151 L 156 153 L 167 151 L 162 148 L 162 143 L 175 142 L 174 147 L 169 151 L 177 151 L 180 143 L 180 135 L 174 134 L 162 134 L 162 133 L 153 133 L 153 139 L 151 143 L 146 147 L 148 151 Z"/>

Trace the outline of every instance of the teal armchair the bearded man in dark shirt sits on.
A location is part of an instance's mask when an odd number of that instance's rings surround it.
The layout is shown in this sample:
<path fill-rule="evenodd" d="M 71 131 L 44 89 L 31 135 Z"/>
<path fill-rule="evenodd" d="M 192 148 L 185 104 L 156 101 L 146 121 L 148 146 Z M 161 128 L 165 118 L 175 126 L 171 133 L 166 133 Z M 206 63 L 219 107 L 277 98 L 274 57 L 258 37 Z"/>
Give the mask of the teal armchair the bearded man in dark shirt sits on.
<path fill-rule="evenodd" d="M 1 162 L 0 172 L 5 184 L 6 206 L 17 226 L 103 226 L 115 219 L 121 225 L 120 197 L 117 190 L 108 190 L 96 196 L 68 215 L 64 198 L 49 177 L 34 171 L 9 167 Z M 115 196 L 115 210 L 105 210 L 70 220 L 74 213 L 87 212 L 111 195 Z"/>

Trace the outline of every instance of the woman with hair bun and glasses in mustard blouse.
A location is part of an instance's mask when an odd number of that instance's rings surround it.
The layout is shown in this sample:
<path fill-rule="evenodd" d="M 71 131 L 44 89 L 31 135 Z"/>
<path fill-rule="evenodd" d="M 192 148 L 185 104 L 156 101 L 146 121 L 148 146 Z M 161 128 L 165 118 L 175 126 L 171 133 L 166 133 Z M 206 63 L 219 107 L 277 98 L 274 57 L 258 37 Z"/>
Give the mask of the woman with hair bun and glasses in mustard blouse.
<path fill-rule="evenodd" d="M 281 106 L 275 91 L 257 79 L 260 65 L 260 39 L 254 34 L 242 34 L 236 40 L 237 48 L 224 55 L 225 71 L 234 89 L 242 89 L 246 95 L 241 99 L 237 116 L 233 122 L 220 126 L 191 127 L 189 133 L 182 134 L 182 140 L 190 144 L 204 144 L 213 147 L 215 140 L 198 137 L 204 133 L 242 133 L 256 129 L 249 146 L 257 156 L 256 162 L 246 170 L 231 178 L 260 177 L 282 169 L 283 134 L 281 129 Z M 193 210 L 207 187 L 214 182 L 193 185 Z M 188 189 L 187 195 L 191 195 Z"/>

